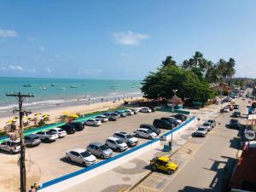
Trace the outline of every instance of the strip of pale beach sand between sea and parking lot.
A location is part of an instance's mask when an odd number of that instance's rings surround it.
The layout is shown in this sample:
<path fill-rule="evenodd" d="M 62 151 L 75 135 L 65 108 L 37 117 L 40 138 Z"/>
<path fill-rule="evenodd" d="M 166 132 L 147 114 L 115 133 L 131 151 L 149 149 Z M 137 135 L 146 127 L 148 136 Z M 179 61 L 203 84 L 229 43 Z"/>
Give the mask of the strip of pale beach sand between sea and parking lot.
<path fill-rule="evenodd" d="M 132 101 L 137 101 L 139 99 L 142 99 L 143 97 L 134 97 Z M 125 99 L 127 102 L 131 102 L 131 98 Z M 63 112 L 68 112 L 69 114 L 73 113 L 92 113 L 96 111 L 106 111 L 111 108 L 117 108 L 120 107 L 122 104 L 124 104 L 123 100 L 117 100 L 116 102 L 96 102 L 96 103 L 90 103 L 90 104 L 84 104 L 84 105 L 74 105 L 74 106 L 56 106 L 56 108 L 50 108 L 50 109 L 42 109 L 40 111 L 33 111 L 29 117 L 33 117 L 35 113 L 47 113 L 49 114 L 49 123 L 54 123 L 57 121 L 57 119 L 63 114 Z M 0 122 L 0 130 L 4 129 L 4 126 L 6 125 L 6 122 L 9 119 L 12 119 L 15 115 L 9 116 L 9 117 L 3 117 L 1 118 Z M 18 125 L 19 119 L 17 119 L 16 125 Z M 32 123 L 31 123 L 32 125 Z"/>

